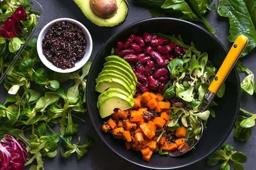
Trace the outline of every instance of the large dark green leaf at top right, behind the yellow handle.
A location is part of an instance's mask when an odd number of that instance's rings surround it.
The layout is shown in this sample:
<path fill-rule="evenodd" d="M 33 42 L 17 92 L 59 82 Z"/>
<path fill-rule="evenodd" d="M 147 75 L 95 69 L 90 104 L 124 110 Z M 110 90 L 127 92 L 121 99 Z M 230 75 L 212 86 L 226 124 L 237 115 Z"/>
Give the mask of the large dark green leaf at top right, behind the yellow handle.
<path fill-rule="evenodd" d="M 251 3 L 249 3 L 249 1 Z M 254 3 L 252 3 L 253 1 Z M 256 13 L 255 3 L 255 0 L 247 0 L 246 6 L 243 0 L 219 0 L 218 15 L 228 17 L 230 21 L 230 35 L 228 40 L 233 42 L 236 37 L 241 34 L 249 38 L 249 43 L 241 57 L 245 56 L 256 47 L 256 15 L 253 15 L 253 17 L 250 15 Z M 249 4 L 254 4 L 255 6 L 247 9 Z"/>

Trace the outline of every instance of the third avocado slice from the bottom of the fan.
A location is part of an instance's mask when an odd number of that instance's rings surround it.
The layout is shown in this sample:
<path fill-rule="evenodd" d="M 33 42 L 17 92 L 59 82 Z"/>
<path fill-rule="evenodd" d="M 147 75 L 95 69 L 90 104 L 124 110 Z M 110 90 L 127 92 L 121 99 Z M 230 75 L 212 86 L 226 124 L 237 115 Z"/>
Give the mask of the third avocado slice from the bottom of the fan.
<path fill-rule="evenodd" d="M 121 81 L 118 78 L 106 78 L 104 80 L 99 81 L 95 86 L 96 92 L 104 92 L 106 89 L 110 87 L 118 87 L 120 89 L 123 89 L 129 93 L 134 94 L 134 91 L 124 81 Z"/>

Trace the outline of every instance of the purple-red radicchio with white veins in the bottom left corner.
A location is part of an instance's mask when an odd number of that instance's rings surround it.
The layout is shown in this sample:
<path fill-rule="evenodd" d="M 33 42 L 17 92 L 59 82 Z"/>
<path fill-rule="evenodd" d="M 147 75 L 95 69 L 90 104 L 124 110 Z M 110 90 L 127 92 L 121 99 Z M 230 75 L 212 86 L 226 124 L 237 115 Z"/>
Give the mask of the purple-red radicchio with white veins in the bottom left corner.
<path fill-rule="evenodd" d="M 27 158 L 24 144 L 6 134 L 0 143 L 0 170 L 23 170 Z"/>

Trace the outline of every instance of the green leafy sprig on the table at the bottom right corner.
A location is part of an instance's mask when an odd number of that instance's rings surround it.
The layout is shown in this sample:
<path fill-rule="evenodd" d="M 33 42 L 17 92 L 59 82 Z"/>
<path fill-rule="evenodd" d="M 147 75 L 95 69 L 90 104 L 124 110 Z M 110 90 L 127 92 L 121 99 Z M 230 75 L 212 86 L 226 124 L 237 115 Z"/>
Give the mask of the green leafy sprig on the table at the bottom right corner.
<path fill-rule="evenodd" d="M 243 170 L 241 163 L 247 161 L 247 156 L 244 153 L 234 151 L 234 146 L 223 144 L 215 153 L 212 153 L 206 160 L 208 166 L 215 166 L 221 162 L 220 170 L 230 170 L 229 161 L 233 162 L 234 170 Z"/>

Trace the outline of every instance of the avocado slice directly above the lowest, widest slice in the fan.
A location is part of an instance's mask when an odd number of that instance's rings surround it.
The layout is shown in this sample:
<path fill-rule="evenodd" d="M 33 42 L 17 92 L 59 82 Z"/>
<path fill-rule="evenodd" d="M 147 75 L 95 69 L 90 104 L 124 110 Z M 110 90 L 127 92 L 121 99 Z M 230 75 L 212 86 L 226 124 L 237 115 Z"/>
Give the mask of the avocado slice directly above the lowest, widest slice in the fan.
<path fill-rule="evenodd" d="M 106 100 L 107 96 L 109 96 L 110 94 L 113 94 L 113 93 L 122 94 L 122 95 L 126 96 L 129 99 L 129 101 L 131 101 L 131 102 L 134 101 L 132 94 L 130 94 L 120 88 L 112 87 L 99 95 L 98 101 L 97 101 L 97 108 L 99 108 L 100 105 L 102 104 L 102 102 L 104 102 L 104 100 Z"/>

